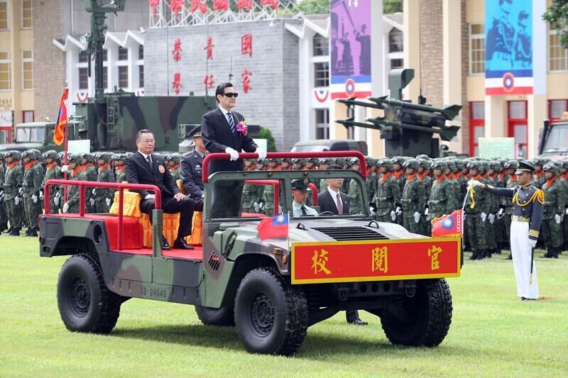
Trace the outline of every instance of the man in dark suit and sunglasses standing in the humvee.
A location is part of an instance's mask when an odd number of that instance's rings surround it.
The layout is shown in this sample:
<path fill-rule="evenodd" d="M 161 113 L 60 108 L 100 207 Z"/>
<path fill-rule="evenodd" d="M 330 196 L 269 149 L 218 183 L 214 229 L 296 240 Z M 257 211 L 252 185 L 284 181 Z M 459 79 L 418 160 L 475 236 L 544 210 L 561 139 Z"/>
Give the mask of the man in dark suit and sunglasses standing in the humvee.
<path fill-rule="evenodd" d="M 258 159 L 266 159 L 266 151 L 254 143 L 248 135 L 242 114 L 232 111 L 236 106 L 236 93 L 233 84 L 219 84 L 215 97 L 219 108 L 205 113 L 201 123 L 202 138 L 207 151 L 226 152 L 231 155 L 229 161 L 212 160 L 209 174 L 220 171 L 242 171 L 244 163 L 239 160 L 239 152 L 258 153 Z M 244 182 L 232 180 L 216 185 L 212 193 L 211 217 L 229 218 L 239 216 Z"/>

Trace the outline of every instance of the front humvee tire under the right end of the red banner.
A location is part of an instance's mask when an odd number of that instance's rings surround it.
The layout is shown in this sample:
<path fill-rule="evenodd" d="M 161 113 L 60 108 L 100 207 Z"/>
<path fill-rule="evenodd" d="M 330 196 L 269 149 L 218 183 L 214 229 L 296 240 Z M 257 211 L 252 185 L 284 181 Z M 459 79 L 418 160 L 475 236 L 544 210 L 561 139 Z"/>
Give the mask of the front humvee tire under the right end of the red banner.
<path fill-rule="evenodd" d="M 391 343 L 435 347 L 446 337 L 452 323 L 452 294 L 445 279 L 417 283 L 415 296 L 403 299 L 408 319 L 401 321 L 392 313 L 381 313 L 381 323 Z"/>

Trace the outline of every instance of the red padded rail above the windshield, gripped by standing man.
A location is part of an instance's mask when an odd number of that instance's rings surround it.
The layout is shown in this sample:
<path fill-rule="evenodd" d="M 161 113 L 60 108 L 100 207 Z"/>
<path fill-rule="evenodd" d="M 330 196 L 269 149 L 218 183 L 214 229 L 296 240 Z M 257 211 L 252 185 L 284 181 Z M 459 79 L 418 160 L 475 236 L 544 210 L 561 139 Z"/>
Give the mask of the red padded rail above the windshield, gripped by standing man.
<path fill-rule="evenodd" d="M 202 181 L 209 181 L 209 161 L 210 160 L 229 160 L 231 155 L 227 153 L 212 153 L 206 155 L 202 164 Z M 358 157 L 359 172 L 364 179 L 367 178 L 367 163 L 365 155 L 359 151 L 321 151 L 321 152 L 268 152 L 267 159 L 307 159 L 310 157 Z M 258 159 L 256 152 L 241 152 L 239 159 Z"/>

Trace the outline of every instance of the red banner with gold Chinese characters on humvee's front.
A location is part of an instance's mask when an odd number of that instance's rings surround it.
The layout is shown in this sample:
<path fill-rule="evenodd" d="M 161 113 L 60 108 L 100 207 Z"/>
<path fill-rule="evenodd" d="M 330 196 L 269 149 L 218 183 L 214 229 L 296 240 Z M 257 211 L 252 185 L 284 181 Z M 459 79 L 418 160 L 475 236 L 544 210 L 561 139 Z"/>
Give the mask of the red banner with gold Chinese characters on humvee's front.
<path fill-rule="evenodd" d="M 459 277 L 461 237 L 292 244 L 292 283 Z"/>

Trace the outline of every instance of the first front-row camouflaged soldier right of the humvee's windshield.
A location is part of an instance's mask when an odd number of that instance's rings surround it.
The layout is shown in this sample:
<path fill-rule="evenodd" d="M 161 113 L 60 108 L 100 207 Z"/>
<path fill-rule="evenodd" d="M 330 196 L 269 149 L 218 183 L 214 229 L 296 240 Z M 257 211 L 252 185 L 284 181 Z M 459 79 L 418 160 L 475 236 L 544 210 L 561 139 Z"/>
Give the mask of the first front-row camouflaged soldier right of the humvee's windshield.
<path fill-rule="evenodd" d="M 393 177 L 393 162 L 383 157 L 376 164 L 378 166 L 377 188 L 372 201 L 375 205 L 376 219 L 381 222 L 396 223 L 396 218 L 401 213 L 401 194 L 398 183 Z"/>

